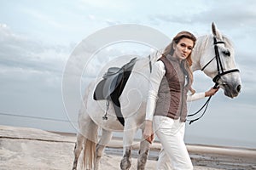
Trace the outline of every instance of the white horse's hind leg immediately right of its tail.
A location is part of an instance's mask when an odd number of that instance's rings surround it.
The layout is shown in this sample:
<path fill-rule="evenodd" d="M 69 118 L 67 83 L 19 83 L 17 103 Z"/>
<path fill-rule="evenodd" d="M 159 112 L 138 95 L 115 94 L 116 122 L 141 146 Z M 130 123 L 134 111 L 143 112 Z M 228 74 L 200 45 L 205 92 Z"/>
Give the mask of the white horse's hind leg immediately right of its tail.
<path fill-rule="evenodd" d="M 112 138 L 112 132 L 102 129 L 102 136 L 98 144 L 96 144 L 96 156 L 95 156 L 95 170 L 99 169 L 100 160 L 103 155 L 105 146 L 109 143 Z"/>

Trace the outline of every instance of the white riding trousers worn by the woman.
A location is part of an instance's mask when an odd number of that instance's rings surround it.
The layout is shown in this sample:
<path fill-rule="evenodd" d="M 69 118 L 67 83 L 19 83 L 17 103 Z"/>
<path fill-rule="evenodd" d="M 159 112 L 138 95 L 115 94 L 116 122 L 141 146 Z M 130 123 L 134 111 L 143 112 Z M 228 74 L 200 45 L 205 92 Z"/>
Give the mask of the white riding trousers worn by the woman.
<path fill-rule="evenodd" d="M 157 170 L 193 170 L 189 152 L 184 143 L 185 123 L 167 116 L 154 116 L 154 132 L 160 139 Z"/>

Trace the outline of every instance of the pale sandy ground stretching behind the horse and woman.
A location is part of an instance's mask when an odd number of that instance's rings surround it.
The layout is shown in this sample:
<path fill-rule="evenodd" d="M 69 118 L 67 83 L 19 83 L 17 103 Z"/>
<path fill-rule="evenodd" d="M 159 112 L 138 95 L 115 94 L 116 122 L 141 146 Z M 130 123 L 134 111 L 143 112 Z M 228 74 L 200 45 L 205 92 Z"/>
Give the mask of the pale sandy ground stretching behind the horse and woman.
<path fill-rule="evenodd" d="M 0 169 L 71 170 L 74 142 L 74 135 L 26 127 L 0 126 Z M 154 169 L 159 148 L 159 144 L 153 145 L 147 170 Z M 196 145 L 189 145 L 188 150 L 195 170 L 256 169 L 255 150 Z M 102 157 L 101 169 L 119 169 L 121 152 L 121 141 L 113 139 Z M 136 169 L 136 154 L 133 156 L 131 170 Z"/>

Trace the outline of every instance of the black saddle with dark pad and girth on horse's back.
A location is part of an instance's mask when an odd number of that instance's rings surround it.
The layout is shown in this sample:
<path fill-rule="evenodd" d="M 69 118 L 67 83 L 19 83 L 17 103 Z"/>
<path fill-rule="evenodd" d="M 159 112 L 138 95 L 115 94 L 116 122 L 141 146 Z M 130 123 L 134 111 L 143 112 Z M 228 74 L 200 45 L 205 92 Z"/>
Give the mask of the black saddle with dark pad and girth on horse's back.
<path fill-rule="evenodd" d="M 95 100 L 107 99 L 113 102 L 114 111 L 122 125 L 125 125 L 125 120 L 120 110 L 119 97 L 125 88 L 136 61 L 137 59 L 133 58 L 121 68 L 108 68 L 108 71 L 103 75 L 103 80 L 96 85 L 93 94 L 93 99 Z"/>

